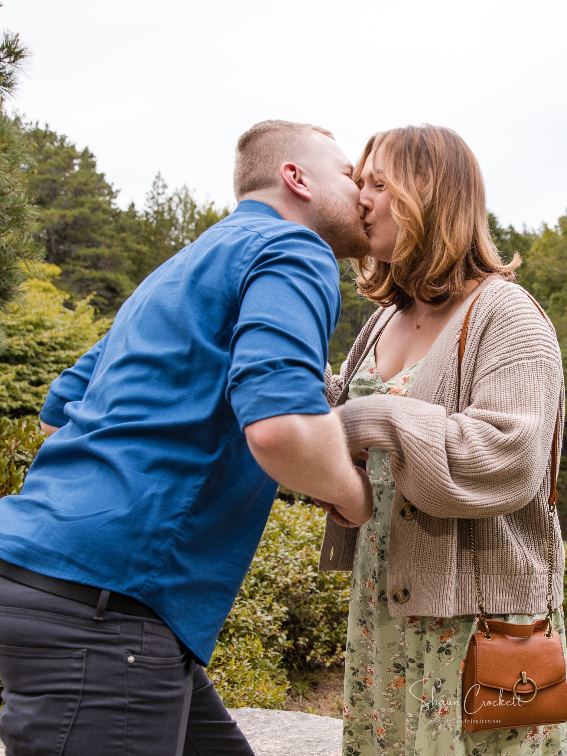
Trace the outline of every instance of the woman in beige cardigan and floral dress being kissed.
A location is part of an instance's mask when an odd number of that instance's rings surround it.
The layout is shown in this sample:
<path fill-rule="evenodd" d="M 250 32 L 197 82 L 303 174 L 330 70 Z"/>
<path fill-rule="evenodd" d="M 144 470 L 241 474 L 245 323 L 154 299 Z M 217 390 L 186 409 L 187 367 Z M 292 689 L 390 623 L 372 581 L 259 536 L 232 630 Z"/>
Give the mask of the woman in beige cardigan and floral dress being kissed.
<path fill-rule="evenodd" d="M 352 564 L 343 754 L 567 754 L 565 723 L 480 733 L 460 723 L 479 629 L 468 518 L 488 617 L 546 614 L 550 448 L 558 407 L 559 427 L 564 416 L 555 333 L 513 283 L 519 257 L 505 265 L 497 253 L 479 166 L 458 135 L 431 125 L 375 135 L 355 178 L 370 239 L 370 258 L 353 261 L 358 290 L 382 307 L 327 376 L 330 404 L 349 400 L 349 448 L 367 458 L 375 502 L 358 531 L 324 504 L 320 569 Z M 458 398 L 458 339 L 479 294 Z M 565 652 L 556 513 L 554 524 L 553 629 Z"/>

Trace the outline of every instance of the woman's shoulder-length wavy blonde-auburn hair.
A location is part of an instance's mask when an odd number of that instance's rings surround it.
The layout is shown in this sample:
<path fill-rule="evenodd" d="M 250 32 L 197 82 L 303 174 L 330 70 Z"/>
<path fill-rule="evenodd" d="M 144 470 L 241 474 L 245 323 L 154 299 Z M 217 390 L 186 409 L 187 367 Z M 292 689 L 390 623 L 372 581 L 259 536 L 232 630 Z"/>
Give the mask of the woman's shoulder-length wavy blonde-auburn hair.
<path fill-rule="evenodd" d="M 355 167 L 355 181 L 379 147 L 381 180 L 392 194 L 390 210 L 399 230 L 392 262 L 351 260 L 359 293 L 404 309 L 413 296 L 429 304 L 447 302 L 470 278 L 516 277 L 520 256 L 507 265 L 500 259 L 488 228 L 479 163 L 459 135 L 429 124 L 375 134 Z"/>

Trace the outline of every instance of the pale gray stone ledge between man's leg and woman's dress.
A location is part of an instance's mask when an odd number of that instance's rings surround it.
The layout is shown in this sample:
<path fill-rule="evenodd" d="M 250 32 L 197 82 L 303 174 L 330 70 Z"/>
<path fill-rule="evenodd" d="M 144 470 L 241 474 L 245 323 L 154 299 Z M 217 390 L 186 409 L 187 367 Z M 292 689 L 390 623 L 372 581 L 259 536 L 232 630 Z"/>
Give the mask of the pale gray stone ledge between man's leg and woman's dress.
<path fill-rule="evenodd" d="M 261 708 L 231 708 L 256 756 L 341 756 L 342 720 Z"/>

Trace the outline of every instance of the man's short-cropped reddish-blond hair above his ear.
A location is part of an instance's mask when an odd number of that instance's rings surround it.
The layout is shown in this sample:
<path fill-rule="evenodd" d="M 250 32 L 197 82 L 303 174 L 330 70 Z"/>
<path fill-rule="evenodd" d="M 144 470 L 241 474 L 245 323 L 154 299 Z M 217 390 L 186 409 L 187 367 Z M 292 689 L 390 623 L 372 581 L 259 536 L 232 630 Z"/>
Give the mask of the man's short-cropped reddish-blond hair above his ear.
<path fill-rule="evenodd" d="M 280 120 L 261 121 L 244 132 L 238 140 L 234 166 L 237 200 L 249 191 L 276 186 L 281 164 L 302 159 L 311 132 L 334 139 L 321 126 Z"/>

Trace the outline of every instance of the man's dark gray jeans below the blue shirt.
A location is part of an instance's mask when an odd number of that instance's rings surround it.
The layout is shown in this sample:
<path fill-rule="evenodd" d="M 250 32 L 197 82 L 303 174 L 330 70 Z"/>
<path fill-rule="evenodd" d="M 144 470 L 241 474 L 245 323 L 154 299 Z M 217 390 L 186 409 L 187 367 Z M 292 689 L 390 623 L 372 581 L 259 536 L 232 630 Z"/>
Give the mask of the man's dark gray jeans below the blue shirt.
<path fill-rule="evenodd" d="M 7 756 L 254 756 L 166 624 L 95 611 L 0 577 Z"/>

